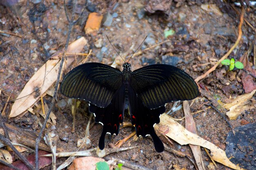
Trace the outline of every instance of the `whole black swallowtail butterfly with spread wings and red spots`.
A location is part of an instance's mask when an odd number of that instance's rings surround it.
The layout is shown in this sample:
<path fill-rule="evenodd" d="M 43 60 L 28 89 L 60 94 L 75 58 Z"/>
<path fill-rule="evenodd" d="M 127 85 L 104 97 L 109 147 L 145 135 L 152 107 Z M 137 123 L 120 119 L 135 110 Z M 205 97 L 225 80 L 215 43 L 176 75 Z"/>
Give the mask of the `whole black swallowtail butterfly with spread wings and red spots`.
<path fill-rule="evenodd" d="M 106 133 L 118 135 L 124 119 L 124 110 L 130 110 L 132 125 L 137 136 L 150 135 L 155 150 L 162 152 L 164 145 L 156 135 L 154 125 L 165 112 L 165 104 L 178 100 L 190 100 L 199 95 L 193 78 L 179 68 L 166 64 L 154 64 L 124 70 L 101 63 L 85 63 L 70 71 L 63 79 L 61 93 L 67 97 L 84 99 L 95 122 L 103 125 L 99 148 L 104 149 Z"/>

